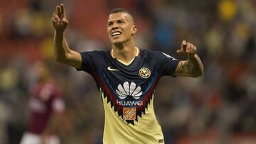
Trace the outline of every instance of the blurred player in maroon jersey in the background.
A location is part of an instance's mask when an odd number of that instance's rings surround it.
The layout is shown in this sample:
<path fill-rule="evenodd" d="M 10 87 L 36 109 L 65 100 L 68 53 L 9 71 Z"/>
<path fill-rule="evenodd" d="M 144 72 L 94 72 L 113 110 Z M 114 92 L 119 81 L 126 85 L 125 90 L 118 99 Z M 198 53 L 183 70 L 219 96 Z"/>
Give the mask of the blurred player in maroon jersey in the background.
<path fill-rule="evenodd" d="M 60 144 L 55 132 L 62 121 L 65 103 L 47 65 L 36 62 L 33 70 L 37 79 L 29 89 L 28 130 L 23 134 L 21 144 Z"/>

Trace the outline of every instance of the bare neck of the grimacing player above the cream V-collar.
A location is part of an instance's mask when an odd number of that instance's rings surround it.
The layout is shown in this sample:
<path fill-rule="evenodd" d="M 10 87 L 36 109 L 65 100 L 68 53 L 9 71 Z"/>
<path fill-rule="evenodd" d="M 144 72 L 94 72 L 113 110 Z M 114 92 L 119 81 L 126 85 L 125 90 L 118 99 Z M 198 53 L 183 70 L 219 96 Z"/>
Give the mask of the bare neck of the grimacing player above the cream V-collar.
<path fill-rule="evenodd" d="M 137 52 L 138 50 L 132 41 L 112 45 L 112 56 L 124 62 L 133 60 L 137 56 Z"/>

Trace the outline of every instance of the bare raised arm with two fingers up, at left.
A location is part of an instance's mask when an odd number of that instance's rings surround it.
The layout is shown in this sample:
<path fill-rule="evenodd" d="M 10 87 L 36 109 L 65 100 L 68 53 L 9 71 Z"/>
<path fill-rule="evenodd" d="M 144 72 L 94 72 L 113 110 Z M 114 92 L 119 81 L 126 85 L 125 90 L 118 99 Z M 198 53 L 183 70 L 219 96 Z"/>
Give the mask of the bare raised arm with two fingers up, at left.
<path fill-rule="evenodd" d="M 56 11 L 53 13 L 53 18 L 51 20 L 53 22 L 53 27 L 55 28 L 53 38 L 55 60 L 80 69 L 82 57 L 79 52 L 71 50 L 68 47 L 68 42 L 65 39 L 65 29 L 68 27 L 68 19 L 65 15 L 63 4 L 56 6 Z"/>

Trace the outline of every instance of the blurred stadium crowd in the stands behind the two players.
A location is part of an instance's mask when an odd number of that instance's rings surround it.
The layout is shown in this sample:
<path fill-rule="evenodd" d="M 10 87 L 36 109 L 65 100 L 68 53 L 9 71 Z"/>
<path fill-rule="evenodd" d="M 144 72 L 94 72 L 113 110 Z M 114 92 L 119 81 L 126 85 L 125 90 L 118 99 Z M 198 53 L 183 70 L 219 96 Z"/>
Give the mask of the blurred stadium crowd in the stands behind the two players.
<path fill-rule="evenodd" d="M 181 40 L 197 45 L 203 77 L 164 77 L 156 90 L 166 143 L 256 143 L 255 0 L 0 0 L 0 143 L 18 143 L 25 131 L 38 60 L 50 64 L 67 103 L 62 142 L 102 143 L 104 110 L 93 79 L 53 60 L 50 18 L 60 2 L 70 48 L 80 52 L 110 49 L 107 16 L 115 7 L 134 15 L 139 48 L 183 59 Z"/>

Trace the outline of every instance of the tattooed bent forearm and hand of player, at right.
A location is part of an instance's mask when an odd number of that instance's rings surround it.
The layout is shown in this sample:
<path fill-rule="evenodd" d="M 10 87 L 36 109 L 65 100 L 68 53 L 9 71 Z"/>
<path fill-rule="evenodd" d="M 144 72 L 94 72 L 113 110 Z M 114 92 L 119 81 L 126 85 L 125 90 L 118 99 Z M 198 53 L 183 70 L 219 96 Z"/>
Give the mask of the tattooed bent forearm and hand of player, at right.
<path fill-rule="evenodd" d="M 203 63 L 196 55 L 196 46 L 192 43 L 182 41 L 181 49 L 177 50 L 178 54 L 188 57 L 187 60 L 181 60 L 175 70 L 176 76 L 200 77 L 203 75 Z"/>

